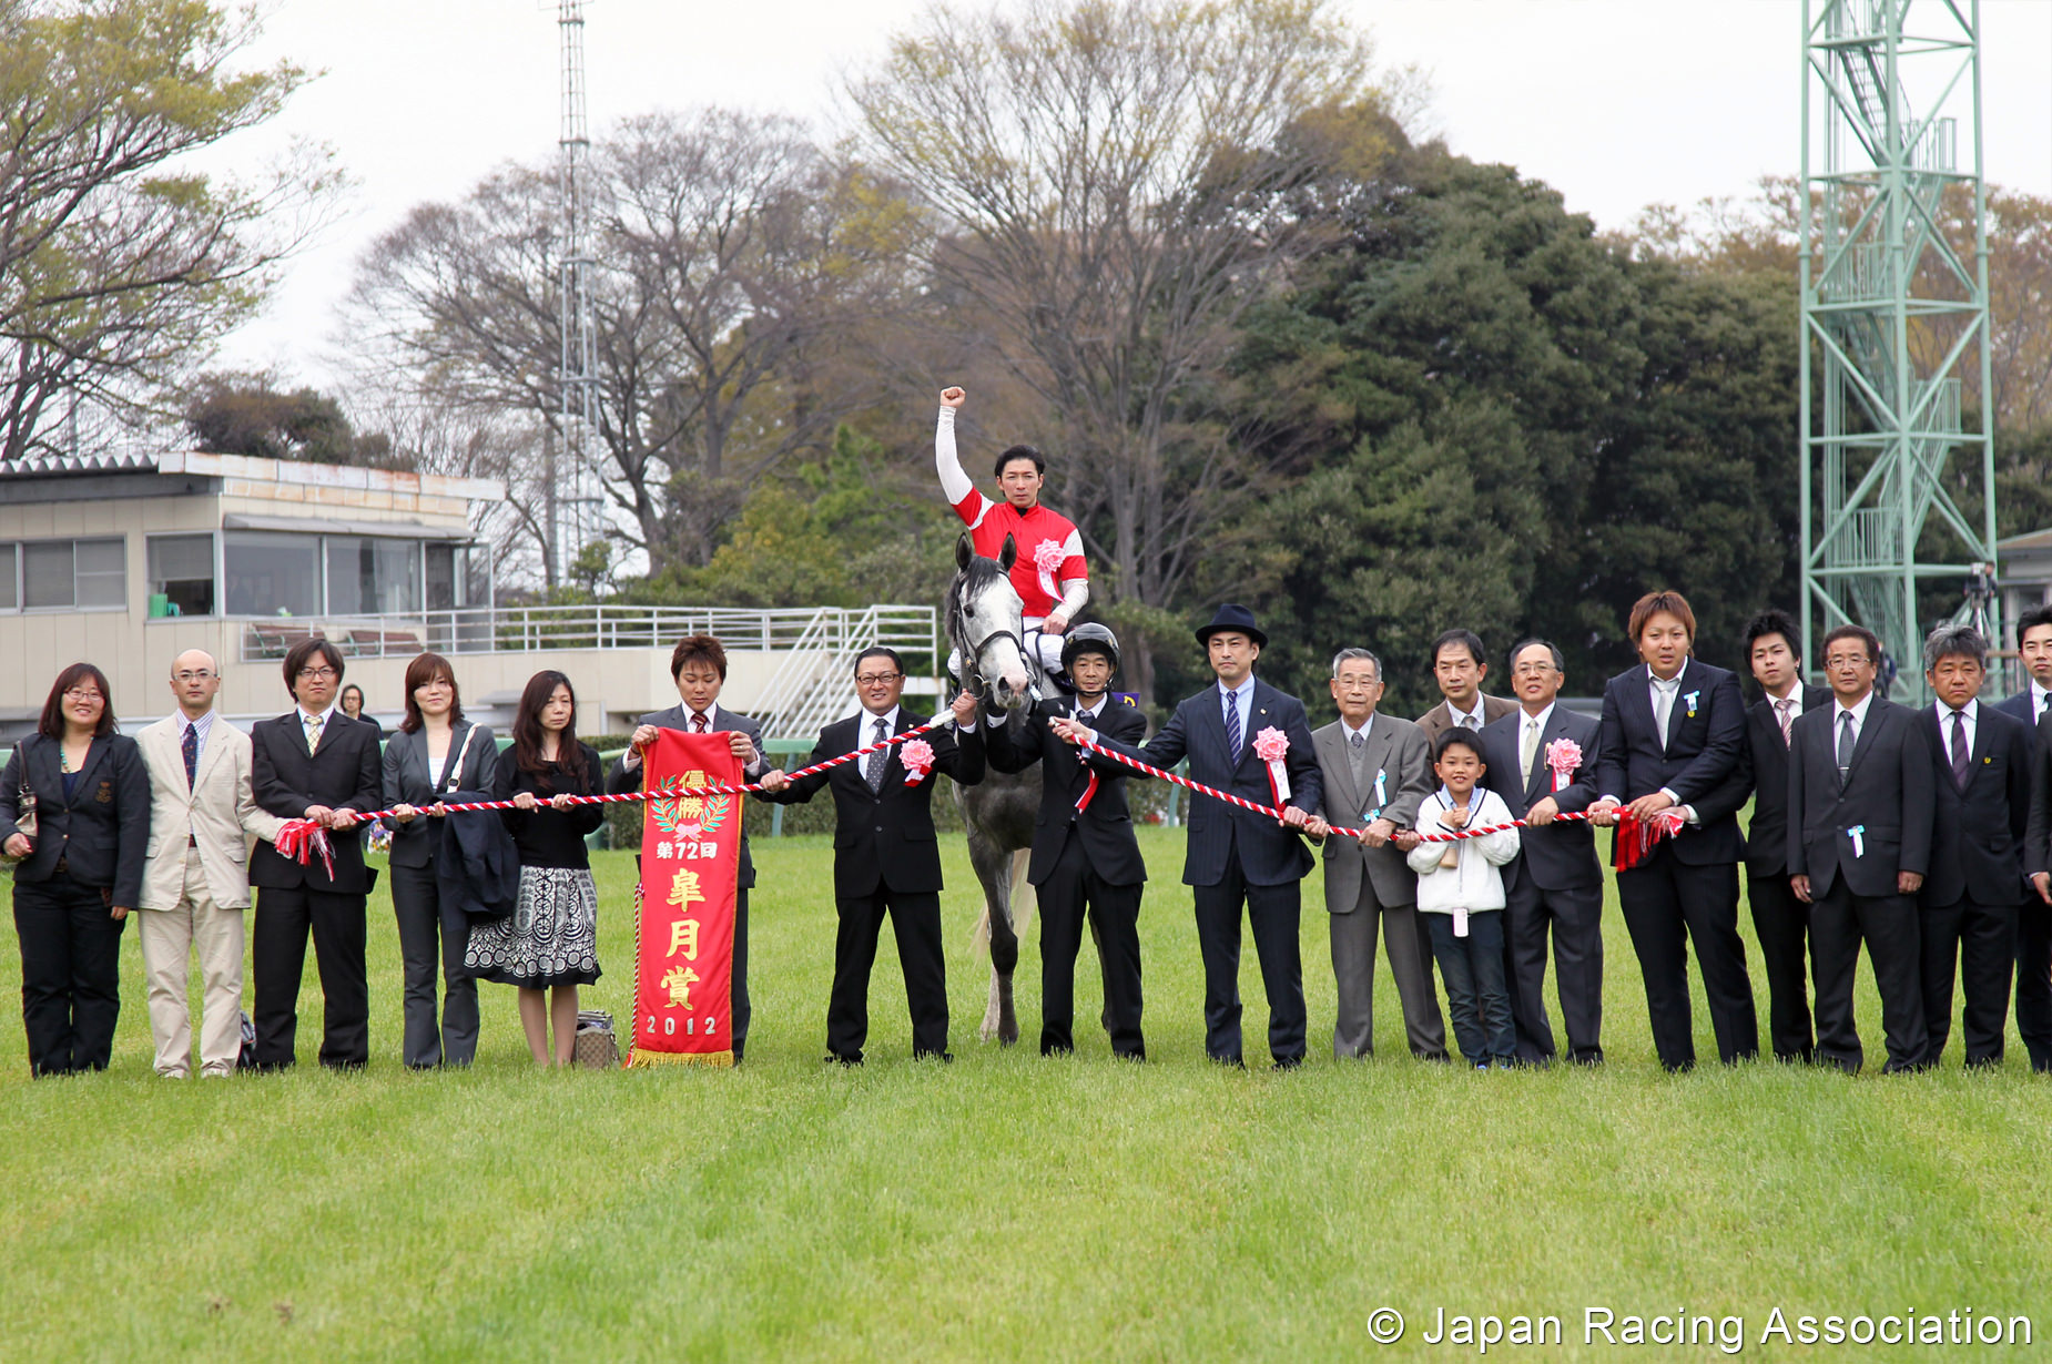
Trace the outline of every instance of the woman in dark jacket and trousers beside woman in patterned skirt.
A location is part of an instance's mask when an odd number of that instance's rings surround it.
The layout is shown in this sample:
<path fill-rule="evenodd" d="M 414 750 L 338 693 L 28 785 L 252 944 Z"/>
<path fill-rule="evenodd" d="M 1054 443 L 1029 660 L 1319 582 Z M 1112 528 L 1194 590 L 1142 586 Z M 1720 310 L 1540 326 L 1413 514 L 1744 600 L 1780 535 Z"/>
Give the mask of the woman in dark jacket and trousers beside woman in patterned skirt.
<path fill-rule="evenodd" d="M 488 792 L 499 773 L 499 740 L 464 720 L 456 673 L 441 654 L 406 665 L 406 718 L 386 743 L 384 800 L 392 806 L 392 913 L 406 970 L 408 1067 L 466 1067 L 478 1054 L 478 982 L 464 966 L 470 919 L 441 902 L 435 849 L 443 796 Z M 441 948 L 443 1003 L 435 1028 L 435 948 Z"/>

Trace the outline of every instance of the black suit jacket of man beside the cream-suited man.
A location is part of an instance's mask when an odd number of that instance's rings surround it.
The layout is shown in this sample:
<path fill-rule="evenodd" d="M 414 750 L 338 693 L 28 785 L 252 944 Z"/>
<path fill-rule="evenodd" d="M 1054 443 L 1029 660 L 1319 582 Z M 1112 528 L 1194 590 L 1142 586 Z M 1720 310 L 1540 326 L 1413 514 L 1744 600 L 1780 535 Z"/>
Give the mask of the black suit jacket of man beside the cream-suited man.
<path fill-rule="evenodd" d="M 281 818 L 302 818 L 308 806 L 357 814 L 376 810 L 384 792 L 378 730 L 334 712 L 320 736 L 320 751 L 308 755 L 306 726 L 298 708 L 273 720 L 259 720 L 250 726 L 250 786 L 256 804 Z M 250 884 L 273 890 L 369 894 L 378 874 L 363 866 L 363 825 L 347 833 L 330 829 L 328 845 L 334 855 L 332 880 L 320 857 L 300 866 L 273 845 L 259 843 L 250 853 Z"/>

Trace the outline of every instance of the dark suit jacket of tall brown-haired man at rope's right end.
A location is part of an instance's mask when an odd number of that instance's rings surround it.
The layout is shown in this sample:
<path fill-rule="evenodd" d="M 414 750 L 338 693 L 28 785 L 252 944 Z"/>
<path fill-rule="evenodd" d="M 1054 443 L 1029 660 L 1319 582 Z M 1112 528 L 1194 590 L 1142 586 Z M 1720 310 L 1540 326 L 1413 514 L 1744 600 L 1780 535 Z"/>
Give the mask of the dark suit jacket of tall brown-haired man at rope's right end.
<path fill-rule="evenodd" d="M 1654 726 L 1650 677 L 1646 665 L 1640 665 L 1603 687 L 1596 794 L 1631 804 L 1666 788 L 1681 804 L 1695 806 L 1699 825 L 1656 845 L 1654 855 L 1670 849 L 1676 861 L 1697 868 L 1738 861 L 1746 853 L 1746 841 L 1738 833 L 1738 806 L 1746 802 L 1736 781 L 1746 747 L 1738 677 L 1697 658 L 1683 665 L 1664 745 Z"/>

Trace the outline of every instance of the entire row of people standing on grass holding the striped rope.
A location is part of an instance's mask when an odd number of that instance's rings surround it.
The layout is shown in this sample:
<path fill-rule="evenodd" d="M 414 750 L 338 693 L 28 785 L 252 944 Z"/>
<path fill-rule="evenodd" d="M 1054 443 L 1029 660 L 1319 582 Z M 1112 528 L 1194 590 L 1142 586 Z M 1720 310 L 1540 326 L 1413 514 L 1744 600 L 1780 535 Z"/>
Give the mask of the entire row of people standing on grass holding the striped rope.
<path fill-rule="evenodd" d="M 755 720 L 718 704 L 718 640 L 677 644 L 675 708 L 644 716 L 605 773 L 577 740 L 577 695 L 552 671 L 525 687 L 507 753 L 462 714 L 449 663 L 406 669 L 406 718 L 384 745 L 343 714 L 341 652 L 308 640 L 285 658 L 293 710 L 242 734 L 213 712 L 220 671 L 203 652 L 172 663 L 176 714 L 140 736 L 115 732 L 105 675 L 80 663 L 51 687 L 35 736 L 0 775 L 0 845 L 16 859 L 14 921 L 23 1015 L 37 1075 L 103 1069 L 119 1011 L 119 939 L 142 919 L 156 1069 L 191 1073 L 187 972 L 197 952 L 205 991 L 201 1075 L 228 1075 L 242 1050 L 244 909 L 252 925 L 254 1046 L 263 1069 L 295 1056 L 298 995 L 312 935 L 324 995 L 320 1060 L 369 1058 L 365 898 L 376 880 L 361 816 L 390 808 L 392 905 L 404 960 L 406 1065 L 466 1065 L 476 1052 L 476 980 L 515 985 L 538 1062 L 566 1062 L 577 987 L 599 976 L 597 896 L 585 835 L 599 806 L 568 796 L 626 792 L 659 726 L 726 734 L 747 779 L 774 802 L 831 790 L 837 808 L 839 929 L 827 1009 L 827 1058 L 860 1062 L 868 978 L 891 917 L 905 968 L 913 1052 L 948 1054 L 940 931 L 934 773 L 962 786 L 987 767 L 1042 765 L 1042 806 L 1028 876 L 1042 915 L 1042 1052 L 1073 1048 L 1073 972 L 1086 925 L 1104 964 L 1112 1050 L 1143 1058 L 1139 905 L 1145 861 L 1112 755 L 1174 769 L 1282 810 L 1282 818 L 1192 794 L 1184 882 L 1192 886 L 1205 962 L 1205 1050 L 1237 1065 L 1241 915 L 1268 995 L 1268 1050 L 1278 1067 L 1305 1056 L 1299 886 L 1321 845 L 1336 1056 L 1373 1050 L 1377 939 L 1389 954 L 1406 1040 L 1449 1058 L 1434 966 L 1459 1054 L 1477 1067 L 1545 1065 L 1560 1054 L 1545 1007 L 1555 970 L 1568 1056 L 1601 1062 L 1603 864 L 1592 827 L 1672 829 L 1617 872 L 1619 902 L 1646 982 L 1654 1046 L 1668 1069 L 1695 1062 L 1687 952 L 1693 944 L 1718 1054 L 1759 1052 L 1752 980 L 1738 935 L 1738 866 L 1748 870 L 1765 958 L 1769 1042 L 1781 1060 L 1857 1071 L 1853 976 L 1865 946 L 1882 997 L 1888 1069 L 1937 1065 L 1964 995 L 1968 1065 L 1997 1065 L 2015 982 L 2017 1028 L 2034 1069 L 2052 1071 L 2052 607 L 2017 626 L 2027 691 L 1982 706 L 1986 642 L 1939 628 L 1925 646 L 1937 701 L 1910 710 L 1876 691 L 1880 644 L 1857 626 L 1822 642 L 1830 687 L 1802 683 L 1802 640 L 1781 611 L 1757 617 L 1744 654 L 1761 687 L 1746 708 L 1734 673 L 1693 656 L 1695 617 L 1679 593 L 1631 611 L 1642 665 L 1613 677 L 1603 716 L 1560 704 L 1557 648 L 1510 650 L 1514 699 L 1484 691 L 1482 642 L 1443 634 L 1432 675 L 1443 701 L 1416 722 L 1381 714 L 1381 660 L 1342 648 L 1332 663 L 1336 718 L 1311 730 L 1305 706 L 1254 677 L 1268 644 L 1237 605 L 1196 632 L 1217 683 L 1182 701 L 1141 743 L 1145 720 L 1110 691 L 1110 630 L 1067 630 L 1059 665 L 1073 695 L 1038 701 L 1010 722 L 975 697 L 952 726 L 925 734 L 909 763 L 899 747 L 802 779 L 774 769 Z M 901 704 L 903 660 L 889 648 L 854 671 L 860 710 L 821 732 L 813 763 L 856 753 L 928 720 Z M 1081 740 L 1094 747 L 1081 747 Z M 513 800 L 517 911 L 472 919 L 451 892 L 445 804 Z M 1742 833 L 1738 812 L 1752 800 Z M 1580 814 L 1584 818 L 1562 818 Z M 285 820 L 326 829 L 330 857 L 277 853 Z M 1523 829 L 1496 829 L 1523 823 Z M 1436 841 L 1426 835 L 1496 829 Z M 1338 831 L 1350 831 L 1342 835 Z M 749 1032 L 747 841 L 733 962 L 733 1050 Z M 439 970 L 437 970 L 439 968 Z M 441 999 L 437 1017 L 437 974 Z M 1812 1011 L 1814 985 L 1814 1011 Z M 554 997 L 550 997 L 550 991 Z M 550 1036 L 554 1034 L 554 1036 Z"/>

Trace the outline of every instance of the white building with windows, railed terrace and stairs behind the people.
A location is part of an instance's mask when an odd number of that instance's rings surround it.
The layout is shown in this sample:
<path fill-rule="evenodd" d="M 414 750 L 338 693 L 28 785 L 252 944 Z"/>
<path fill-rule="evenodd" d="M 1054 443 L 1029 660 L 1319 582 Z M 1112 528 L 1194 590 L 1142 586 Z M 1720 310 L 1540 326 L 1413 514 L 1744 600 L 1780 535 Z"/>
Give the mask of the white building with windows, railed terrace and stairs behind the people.
<path fill-rule="evenodd" d="M 685 634 L 722 640 L 722 701 L 774 716 L 776 734 L 845 714 L 868 644 L 932 671 L 932 607 L 501 607 L 470 527 L 503 496 L 480 478 L 242 455 L 0 466 L 0 740 L 35 728 L 74 660 L 107 673 L 133 732 L 172 708 L 170 660 L 187 648 L 220 658 L 222 712 L 246 726 L 291 704 L 281 660 L 308 636 L 341 648 L 388 728 L 421 650 L 447 654 L 466 712 L 499 724 L 536 671 L 568 675 L 587 734 L 675 704 L 669 650 Z"/>

